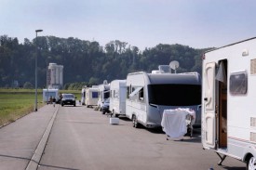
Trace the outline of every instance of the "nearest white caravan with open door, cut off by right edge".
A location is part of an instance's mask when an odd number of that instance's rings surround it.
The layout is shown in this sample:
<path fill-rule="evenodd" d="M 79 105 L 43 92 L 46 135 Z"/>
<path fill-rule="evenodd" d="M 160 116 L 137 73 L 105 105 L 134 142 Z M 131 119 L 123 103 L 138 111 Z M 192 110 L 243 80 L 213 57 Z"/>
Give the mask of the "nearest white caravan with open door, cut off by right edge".
<path fill-rule="evenodd" d="M 202 144 L 256 167 L 256 37 L 205 53 Z"/>

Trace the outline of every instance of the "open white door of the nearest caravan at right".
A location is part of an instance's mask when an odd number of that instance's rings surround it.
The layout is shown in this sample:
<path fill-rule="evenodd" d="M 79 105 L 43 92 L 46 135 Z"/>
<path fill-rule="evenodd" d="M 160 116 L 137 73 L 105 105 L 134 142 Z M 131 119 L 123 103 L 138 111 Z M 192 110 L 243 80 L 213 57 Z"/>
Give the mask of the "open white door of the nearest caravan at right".
<path fill-rule="evenodd" d="M 203 131 L 202 140 L 204 148 L 215 148 L 216 117 L 215 117 L 215 62 L 205 64 L 203 72 Z"/>

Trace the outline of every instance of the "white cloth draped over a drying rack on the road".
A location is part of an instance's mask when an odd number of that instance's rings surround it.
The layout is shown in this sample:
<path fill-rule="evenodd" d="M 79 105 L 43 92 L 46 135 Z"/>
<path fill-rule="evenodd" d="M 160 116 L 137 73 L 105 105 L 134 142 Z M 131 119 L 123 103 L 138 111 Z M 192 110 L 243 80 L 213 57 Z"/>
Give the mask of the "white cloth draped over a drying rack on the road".
<path fill-rule="evenodd" d="M 190 114 L 195 124 L 195 111 L 190 109 L 164 110 L 161 125 L 163 131 L 172 138 L 183 137 L 187 133 L 186 116 Z"/>

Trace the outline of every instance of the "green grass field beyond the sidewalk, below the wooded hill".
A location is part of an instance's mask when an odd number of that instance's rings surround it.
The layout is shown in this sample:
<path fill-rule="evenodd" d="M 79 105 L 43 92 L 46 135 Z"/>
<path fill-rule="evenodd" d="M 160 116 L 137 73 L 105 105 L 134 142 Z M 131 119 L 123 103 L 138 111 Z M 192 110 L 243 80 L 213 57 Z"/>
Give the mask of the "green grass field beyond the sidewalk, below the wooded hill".
<path fill-rule="evenodd" d="M 74 93 L 77 99 L 81 98 L 80 91 L 61 90 L 61 93 Z M 34 111 L 34 98 L 34 89 L 0 89 L 0 126 Z M 38 108 L 45 105 L 42 98 L 42 89 L 38 89 Z"/>

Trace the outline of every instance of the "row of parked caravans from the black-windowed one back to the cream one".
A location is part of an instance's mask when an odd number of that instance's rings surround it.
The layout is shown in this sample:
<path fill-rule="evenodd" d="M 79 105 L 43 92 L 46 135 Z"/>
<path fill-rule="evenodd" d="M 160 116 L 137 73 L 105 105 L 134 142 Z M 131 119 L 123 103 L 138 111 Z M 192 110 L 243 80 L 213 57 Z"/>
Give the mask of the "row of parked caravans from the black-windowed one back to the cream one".
<path fill-rule="evenodd" d="M 201 125 L 201 78 L 197 72 L 132 72 L 126 80 L 106 81 L 82 89 L 82 104 L 102 113 L 132 120 L 133 126 L 161 126 L 163 111 L 194 110 L 195 126 Z"/>

